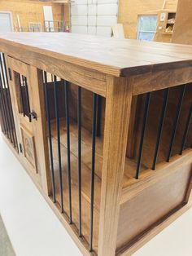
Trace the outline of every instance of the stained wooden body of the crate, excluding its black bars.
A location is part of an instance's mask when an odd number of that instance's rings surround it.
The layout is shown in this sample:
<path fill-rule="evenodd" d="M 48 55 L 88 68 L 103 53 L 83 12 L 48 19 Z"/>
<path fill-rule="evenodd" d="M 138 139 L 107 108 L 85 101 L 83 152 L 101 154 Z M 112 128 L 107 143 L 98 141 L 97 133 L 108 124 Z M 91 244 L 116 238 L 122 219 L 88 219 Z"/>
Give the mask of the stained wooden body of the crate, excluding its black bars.
<path fill-rule="evenodd" d="M 185 119 L 191 101 L 192 46 L 155 42 L 137 42 L 115 38 L 96 38 L 69 33 L 4 33 L 0 34 L 0 51 L 6 54 L 7 68 L 11 68 L 10 93 L 18 142 L 24 136 L 31 139 L 33 154 L 16 154 L 36 183 L 50 207 L 72 236 L 83 255 L 131 255 L 155 234 L 168 226 L 192 205 L 191 126 L 182 156 L 178 156 Z M 8 71 L 8 69 L 7 69 Z M 64 214 L 60 213 L 59 166 L 55 126 L 53 83 L 48 74 L 51 100 L 51 129 L 55 167 L 56 202 L 51 200 L 50 159 L 42 71 L 61 78 L 59 91 L 60 147 Z M 37 120 L 28 122 L 22 116 L 20 90 L 17 88 L 21 73 L 28 78 L 32 110 Z M 71 129 L 72 209 L 73 223 L 68 224 L 67 131 L 63 79 L 68 86 Z M 164 161 L 164 149 L 170 132 L 164 132 L 155 170 L 151 170 L 155 130 L 159 119 L 164 88 L 170 91 L 165 130 L 172 127 L 172 113 L 180 85 L 187 83 L 181 118 L 177 127 L 177 141 L 173 157 Z M 77 186 L 77 86 L 82 90 L 82 235 L 78 237 Z M 137 149 L 141 133 L 143 102 L 146 92 L 152 92 L 149 123 L 144 139 L 139 179 L 135 179 Z M 91 173 L 92 95 L 102 96 L 97 109 L 97 137 L 94 171 L 94 240 L 89 252 L 89 205 Z M 23 129 L 23 131 L 22 131 Z M 23 137 L 22 137 L 23 136 Z M 6 138 L 5 138 L 6 139 Z M 7 140 L 7 139 L 6 139 Z M 8 140 L 7 143 L 11 145 Z M 11 146 L 10 146 L 11 147 Z M 25 156 L 24 156 L 25 155 Z M 26 159 L 32 157 L 32 159 Z M 30 163 L 29 163 L 29 162 Z M 169 193 L 169 188 L 172 192 Z M 166 196 L 168 194 L 168 196 Z M 154 196 L 155 195 L 155 196 Z M 157 200 L 158 198 L 158 200 Z M 135 219 L 138 219 L 138 222 Z M 144 220 L 144 221 L 143 221 Z M 63 252 L 64 253 L 64 252 Z"/>

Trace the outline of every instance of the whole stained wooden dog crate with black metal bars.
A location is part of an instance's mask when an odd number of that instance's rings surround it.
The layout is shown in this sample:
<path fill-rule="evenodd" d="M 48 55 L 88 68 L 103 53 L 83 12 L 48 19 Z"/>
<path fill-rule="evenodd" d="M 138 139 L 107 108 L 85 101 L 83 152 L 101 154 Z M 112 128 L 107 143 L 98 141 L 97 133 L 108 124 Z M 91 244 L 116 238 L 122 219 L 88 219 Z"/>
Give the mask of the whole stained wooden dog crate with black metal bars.
<path fill-rule="evenodd" d="M 0 51 L 3 138 L 83 255 L 131 255 L 190 208 L 192 46 L 3 33 Z"/>

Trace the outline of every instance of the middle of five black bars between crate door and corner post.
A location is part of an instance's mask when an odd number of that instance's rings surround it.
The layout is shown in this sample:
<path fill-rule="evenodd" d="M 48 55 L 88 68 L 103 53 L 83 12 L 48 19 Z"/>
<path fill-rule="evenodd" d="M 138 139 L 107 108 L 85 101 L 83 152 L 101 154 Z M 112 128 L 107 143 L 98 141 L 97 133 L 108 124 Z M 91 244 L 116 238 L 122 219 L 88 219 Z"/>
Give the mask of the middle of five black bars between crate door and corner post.
<path fill-rule="evenodd" d="M 67 144 L 68 144 L 68 205 L 69 205 L 69 223 L 72 224 L 72 180 L 71 180 L 70 120 L 69 120 L 69 107 L 68 107 L 68 86 L 69 86 L 69 82 L 68 81 L 64 81 L 65 116 L 66 116 Z"/>

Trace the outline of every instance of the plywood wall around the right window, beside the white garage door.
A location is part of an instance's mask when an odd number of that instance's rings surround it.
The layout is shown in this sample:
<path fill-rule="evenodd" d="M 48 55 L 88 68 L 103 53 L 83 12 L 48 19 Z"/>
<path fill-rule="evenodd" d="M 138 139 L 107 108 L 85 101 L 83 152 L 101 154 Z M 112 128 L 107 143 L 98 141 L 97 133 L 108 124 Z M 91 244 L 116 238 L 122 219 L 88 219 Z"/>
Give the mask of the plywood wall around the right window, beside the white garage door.
<path fill-rule="evenodd" d="M 126 38 L 137 38 L 137 15 L 162 9 L 164 0 L 119 0 L 118 22 L 124 24 Z M 176 9 L 177 0 L 165 2 L 165 8 Z"/>

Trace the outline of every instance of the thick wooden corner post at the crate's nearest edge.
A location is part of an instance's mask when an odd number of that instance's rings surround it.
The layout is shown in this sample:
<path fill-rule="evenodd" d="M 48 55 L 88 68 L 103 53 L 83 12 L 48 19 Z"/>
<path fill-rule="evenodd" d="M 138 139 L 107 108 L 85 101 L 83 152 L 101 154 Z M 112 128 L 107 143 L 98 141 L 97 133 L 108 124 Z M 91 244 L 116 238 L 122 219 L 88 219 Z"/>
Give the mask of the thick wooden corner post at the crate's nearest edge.
<path fill-rule="evenodd" d="M 107 77 L 98 255 L 115 255 L 132 79 Z"/>

